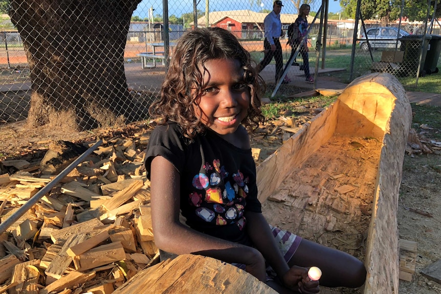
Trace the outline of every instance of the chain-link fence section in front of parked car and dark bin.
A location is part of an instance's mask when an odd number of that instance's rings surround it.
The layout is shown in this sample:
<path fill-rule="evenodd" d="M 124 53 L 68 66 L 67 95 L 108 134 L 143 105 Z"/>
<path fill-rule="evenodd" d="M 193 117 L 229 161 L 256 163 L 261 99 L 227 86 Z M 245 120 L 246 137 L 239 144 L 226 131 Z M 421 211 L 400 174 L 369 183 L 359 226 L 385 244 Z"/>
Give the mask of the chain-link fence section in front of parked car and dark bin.
<path fill-rule="evenodd" d="M 430 12 L 430 6 L 427 9 Z M 441 25 L 434 18 L 409 21 L 401 17 L 392 22 L 386 19 L 386 15 L 377 15 L 376 20 L 358 17 L 351 77 L 385 72 L 407 85 L 413 81 L 416 87 L 418 78 L 439 71 Z"/>

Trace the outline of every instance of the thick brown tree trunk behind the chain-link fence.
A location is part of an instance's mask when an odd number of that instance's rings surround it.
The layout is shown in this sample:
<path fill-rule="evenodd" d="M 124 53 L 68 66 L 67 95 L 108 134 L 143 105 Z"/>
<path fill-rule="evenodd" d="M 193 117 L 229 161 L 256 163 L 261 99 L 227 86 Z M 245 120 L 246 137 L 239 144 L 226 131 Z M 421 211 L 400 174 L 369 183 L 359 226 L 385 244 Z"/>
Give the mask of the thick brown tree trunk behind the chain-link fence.
<path fill-rule="evenodd" d="M 76 130 L 139 120 L 124 74 L 130 17 L 141 0 L 12 0 L 32 97 L 28 124 Z"/>

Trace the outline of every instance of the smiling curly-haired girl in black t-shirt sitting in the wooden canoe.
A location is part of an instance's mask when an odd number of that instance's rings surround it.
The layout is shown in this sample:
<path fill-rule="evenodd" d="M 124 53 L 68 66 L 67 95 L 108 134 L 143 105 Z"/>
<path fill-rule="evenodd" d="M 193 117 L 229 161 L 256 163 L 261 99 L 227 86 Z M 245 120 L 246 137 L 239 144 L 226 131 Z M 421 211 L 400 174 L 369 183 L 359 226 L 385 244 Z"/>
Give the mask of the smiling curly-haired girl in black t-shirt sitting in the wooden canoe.
<path fill-rule="evenodd" d="M 358 259 L 272 228 L 262 216 L 246 130 L 263 122 L 261 82 L 224 29 L 197 29 L 178 41 L 149 109 L 161 119 L 145 161 L 155 243 L 233 263 L 281 293 L 317 293 L 318 281 L 307 277 L 313 265 L 323 285 L 358 287 L 366 275 Z"/>

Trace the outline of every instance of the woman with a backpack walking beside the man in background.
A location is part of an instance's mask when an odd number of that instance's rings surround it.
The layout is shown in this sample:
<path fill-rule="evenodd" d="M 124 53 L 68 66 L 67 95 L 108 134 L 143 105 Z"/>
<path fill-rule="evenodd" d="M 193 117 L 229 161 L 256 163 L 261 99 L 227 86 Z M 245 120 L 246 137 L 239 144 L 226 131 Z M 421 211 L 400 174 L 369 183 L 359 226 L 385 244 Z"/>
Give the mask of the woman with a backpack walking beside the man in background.
<path fill-rule="evenodd" d="M 310 52 L 310 50 L 308 48 L 308 41 L 307 41 L 307 36 L 306 36 L 306 32 L 308 30 L 308 21 L 307 21 L 306 17 L 310 14 L 310 10 L 311 10 L 311 7 L 307 4 L 302 4 L 300 6 L 299 15 L 298 15 L 296 21 L 294 21 L 294 31 L 293 31 L 294 37 L 290 38 L 290 45 L 291 45 L 290 60 L 293 57 L 293 55 L 295 54 L 297 47 L 301 46 L 299 52 L 302 55 L 303 65 L 300 65 L 300 70 L 303 69 L 303 71 L 305 72 L 305 78 L 306 78 L 305 81 L 307 83 L 314 83 L 314 79 L 311 77 L 311 74 L 310 74 L 310 60 L 309 60 L 309 56 L 308 56 L 308 52 Z M 304 40 L 300 44 L 303 37 L 304 37 Z M 286 63 L 286 67 L 288 67 L 290 65 L 291 64 Z M 286 67 L 285 67 L 285 69 L 286 69 Z"/>

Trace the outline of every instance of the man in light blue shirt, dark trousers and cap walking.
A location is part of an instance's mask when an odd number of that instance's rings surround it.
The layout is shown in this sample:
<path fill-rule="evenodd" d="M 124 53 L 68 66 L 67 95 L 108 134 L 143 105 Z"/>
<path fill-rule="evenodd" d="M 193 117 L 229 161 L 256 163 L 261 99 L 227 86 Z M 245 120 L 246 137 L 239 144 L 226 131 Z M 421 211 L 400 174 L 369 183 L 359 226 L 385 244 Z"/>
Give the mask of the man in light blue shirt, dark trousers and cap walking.
<path fill-rule="evenodd" d="M 264 57 L 259 64 L 257 64 L 257 71 L 260 73 L 271 60 L 276 61 L 276 83 L 283 73 L 283 56 L 282 46 L 279 38 L 283 36 L 282 23 L 280 21 L 280 11 L 282 10 L 282 2 L 274 1 L 273 11 L 271 11 L 264 19 L 263 26 L 265 27 L 265 39 L 263 40 Z M 282 83 L 288 83 L 285 79 Z"/>

